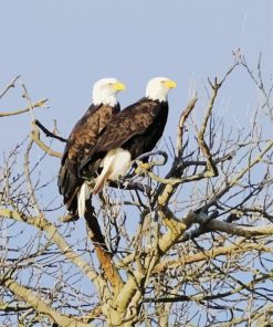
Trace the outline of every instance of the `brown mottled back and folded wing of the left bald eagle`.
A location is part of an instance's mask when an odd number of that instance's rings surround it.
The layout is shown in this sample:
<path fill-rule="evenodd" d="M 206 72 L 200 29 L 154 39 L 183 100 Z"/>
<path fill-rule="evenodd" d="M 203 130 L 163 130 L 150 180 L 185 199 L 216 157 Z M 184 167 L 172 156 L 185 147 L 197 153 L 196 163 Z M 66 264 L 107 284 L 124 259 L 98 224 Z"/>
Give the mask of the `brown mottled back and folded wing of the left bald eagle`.
<path fill-rule="evenodd" d="M 97 141 L 99 134 L 106 127 L 112 116 L 119 112 L 119 105 L 115 107 L 99 105 L 91 107 L 74 126 L 66 147 L 64 149 L 61 169 L 59 173 L 59 190 L 64 197 L 67 209 L 75 213 L 76 193 L 83 180 L 78 177 L 80 162 L 88 154 Z"/>

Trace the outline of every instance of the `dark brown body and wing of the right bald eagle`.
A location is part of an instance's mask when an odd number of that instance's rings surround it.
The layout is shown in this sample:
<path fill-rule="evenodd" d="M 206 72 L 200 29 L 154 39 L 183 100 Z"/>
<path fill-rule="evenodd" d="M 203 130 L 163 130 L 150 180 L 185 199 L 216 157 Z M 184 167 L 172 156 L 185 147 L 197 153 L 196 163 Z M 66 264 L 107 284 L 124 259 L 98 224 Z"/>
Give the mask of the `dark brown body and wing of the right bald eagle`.
<path fill-rule="evenodd" d="M 133 159 L 153 149 L 162 134 L 167 115 L 167 103 L 147 98 L 125 108 L 109 122 L 95 147 L 82 161 L 81 169 L 88 167 L 88 170 L 96 170 L 105 152 L 117 147 L 128 149 Z"/>

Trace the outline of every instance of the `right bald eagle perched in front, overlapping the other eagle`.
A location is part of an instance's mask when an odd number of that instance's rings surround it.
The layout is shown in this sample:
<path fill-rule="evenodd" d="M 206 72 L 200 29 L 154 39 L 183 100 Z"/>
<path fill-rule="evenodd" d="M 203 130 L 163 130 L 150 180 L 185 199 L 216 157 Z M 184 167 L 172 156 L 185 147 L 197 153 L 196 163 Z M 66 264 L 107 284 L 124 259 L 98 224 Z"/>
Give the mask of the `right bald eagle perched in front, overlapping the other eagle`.
<path fill-rule="evenodd" d="M 101 171 L 92 191 L 94 194 L 107 180 L 118 180 L 132 160 L 156 146 L 168 117 L 168 92 L 174 87 L 176 83 L 169 78 L 153 78 L 147 84 L 144 98 L 113 116 L 81 164 L 81 170 L 87 169 L 93 176 Z M 90 196 L 85 190 L 84 186 L 82 203 Z"/>

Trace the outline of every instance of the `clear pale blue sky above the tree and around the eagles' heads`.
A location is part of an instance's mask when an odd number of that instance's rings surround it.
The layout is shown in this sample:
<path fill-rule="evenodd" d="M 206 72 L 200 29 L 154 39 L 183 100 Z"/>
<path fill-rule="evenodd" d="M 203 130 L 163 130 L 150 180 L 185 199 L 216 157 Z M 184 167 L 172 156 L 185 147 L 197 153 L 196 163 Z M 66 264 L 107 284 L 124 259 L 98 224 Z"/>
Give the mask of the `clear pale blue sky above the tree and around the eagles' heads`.
<path fill-rule="evenodd" d="M 140 98 L 150 77 L 174 78 L 178 87 L 169 98 L 168 137 L 174 135 L 171 127 L 188 99 L 192 80 L 202 93 L 208 76 L 221 76 L 228 70 L 232 50 L 241 48 L 253 66 L 262 52 L 265 77 L 273 67 L 270 0 L 0 3 L 0 88 L 21 74 L 32 101 L 50 98 L 50 109 L 36 110 L 38 118 L 49 127 L 56 118 L 63 136 L 90 105 L 92 85 L 101 77 L 126 83 L 127 92 L 119 96 L 122 106 Z M 245 89 L 244 81 L 234 76 L 222 93 L 239 120 L 256 96 L 253 89 Z M 23 105 L 19 87 L 1 102 L 0 109 Z M 0 147 L 10 148 L 27 135 L 29 120 L 29 115 L 2 119 Z"/>

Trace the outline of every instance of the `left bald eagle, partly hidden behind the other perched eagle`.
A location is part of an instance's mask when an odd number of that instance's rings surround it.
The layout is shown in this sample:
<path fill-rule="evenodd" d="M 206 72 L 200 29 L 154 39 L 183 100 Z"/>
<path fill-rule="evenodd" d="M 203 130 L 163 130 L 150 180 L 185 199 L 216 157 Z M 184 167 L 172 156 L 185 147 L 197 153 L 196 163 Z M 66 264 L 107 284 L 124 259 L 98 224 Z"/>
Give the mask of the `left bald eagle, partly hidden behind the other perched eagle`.
<path fill-rule="evenodd" d="M 113 115 L 119 113 L 117 93 L 125 85 L 116 78 L 102 78 L 93 86 L 93 103 L 74 126 L 65 146 L 59 172 L 59 190 L 67 210 L 77 218 L 77 198 L 84 182 L 80 173 L 81 162 L 96 145 Z M 88 175 L 90 178 L 90 175 Z"/>

